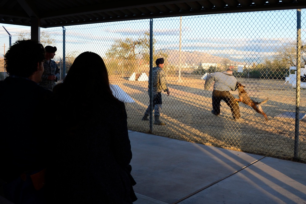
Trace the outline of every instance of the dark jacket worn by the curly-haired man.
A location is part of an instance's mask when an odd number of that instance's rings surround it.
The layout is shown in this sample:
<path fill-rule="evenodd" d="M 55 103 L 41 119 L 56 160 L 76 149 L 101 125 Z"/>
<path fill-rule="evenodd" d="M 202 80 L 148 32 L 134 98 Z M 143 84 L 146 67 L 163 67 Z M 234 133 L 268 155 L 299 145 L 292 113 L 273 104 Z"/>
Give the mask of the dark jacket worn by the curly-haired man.
<path fill-rule="evenodd" d="M 45 167 L 47 135 L 42 108 L 51 91 L 25 78 L 0 81 L 0 175 L 11 181 Z"/>

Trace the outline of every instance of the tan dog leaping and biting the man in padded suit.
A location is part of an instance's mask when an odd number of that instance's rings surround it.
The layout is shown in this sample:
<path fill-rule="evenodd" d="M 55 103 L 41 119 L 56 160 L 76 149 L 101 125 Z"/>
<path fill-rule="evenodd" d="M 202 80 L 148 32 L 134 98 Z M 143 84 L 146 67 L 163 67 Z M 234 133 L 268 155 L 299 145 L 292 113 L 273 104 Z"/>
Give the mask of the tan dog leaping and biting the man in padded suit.
<path fill-rule="evenodd" d="M 255 102 L 253 101 L 250 96 L 248 95 L 247 91 L 244 89 L 245 86 L 243 86 L 241 83 L 237 82 L 237 88 L 239 91 L 239 98 L 235 98 L 235 101 L 243 102 L 244 104 L 251 106 L 254 110 L 256 110 L 257 113 L 263 114 L 266 121 L 268 121 L 268 116 L 265 112 L 263 112 L 263 108 L 260 106 L 260 104 L 263 104 L 268 101 L 269 98 L 266 98 L 262 102 Z"/>

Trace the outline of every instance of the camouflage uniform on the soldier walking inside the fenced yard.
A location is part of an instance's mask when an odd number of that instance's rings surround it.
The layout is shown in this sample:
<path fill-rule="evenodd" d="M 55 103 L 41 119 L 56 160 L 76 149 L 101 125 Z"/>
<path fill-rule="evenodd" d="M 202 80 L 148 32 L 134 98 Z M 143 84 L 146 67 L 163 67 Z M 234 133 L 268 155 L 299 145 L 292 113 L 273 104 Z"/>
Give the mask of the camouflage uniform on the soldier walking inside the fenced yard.
<path fill-rule="evenodd" d="M 150 75 L 149 75 L 150 78 Z M 168 91 L 167 81 L 165 72 L 160 67 L 153 67 L 152 70 L 152 82 L 153 82 L 153 107 L 154 107 L 154 116 L 159 116 L 159 110 L 162 108 L 162 90 L 164 92 Z M 150 81 L 148 88 L 150 87 Z M 150 90 L 148 90 L 150 95 Z M 148 106 L 145 115 L 150 114 L 150 106 Z"/>

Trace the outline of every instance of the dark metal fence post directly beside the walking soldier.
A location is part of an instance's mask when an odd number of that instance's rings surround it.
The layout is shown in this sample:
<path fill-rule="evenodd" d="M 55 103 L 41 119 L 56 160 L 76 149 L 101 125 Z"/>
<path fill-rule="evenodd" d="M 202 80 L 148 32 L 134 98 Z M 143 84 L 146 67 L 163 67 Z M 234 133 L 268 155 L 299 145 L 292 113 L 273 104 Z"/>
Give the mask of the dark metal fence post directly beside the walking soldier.
<path fill-rule="evenodd" d="M 153 19 L 150 19 L 150 71 L 149 71 L 149 94 L 150 94 L 150 133 L 153 133 Z"/>

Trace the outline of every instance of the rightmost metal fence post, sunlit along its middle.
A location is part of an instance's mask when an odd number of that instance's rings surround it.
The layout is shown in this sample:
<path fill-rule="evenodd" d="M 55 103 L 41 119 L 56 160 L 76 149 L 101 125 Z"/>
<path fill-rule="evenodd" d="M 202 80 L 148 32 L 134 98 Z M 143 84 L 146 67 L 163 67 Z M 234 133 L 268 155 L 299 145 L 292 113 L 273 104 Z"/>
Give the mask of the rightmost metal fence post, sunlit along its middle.
<path fill-rule="evenodd" d="M 300 134 L 300 89 L 301 89 L 301 10 L 297 9 L 297 90 L 295 106 L 294 159 L 299 153 Z"/>

